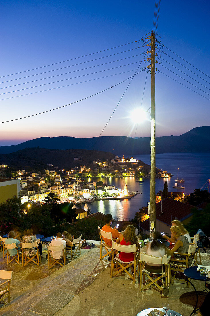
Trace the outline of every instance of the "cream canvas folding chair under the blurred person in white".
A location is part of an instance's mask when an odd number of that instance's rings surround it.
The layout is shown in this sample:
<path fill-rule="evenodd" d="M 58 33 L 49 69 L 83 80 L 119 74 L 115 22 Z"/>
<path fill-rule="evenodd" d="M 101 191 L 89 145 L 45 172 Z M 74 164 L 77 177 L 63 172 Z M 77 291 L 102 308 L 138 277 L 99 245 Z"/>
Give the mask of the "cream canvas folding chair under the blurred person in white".
<path fill-rule="evenodd" d="M 155 257 L 148 255 L 146 253 L 140 252 L 140 274 L 139 274 L 139 290 L 140 292 L 147 289 L 151 285 L 155 285 L 160 291 L 162 291 L 161 286 L 157 283 L 157 281 L 164 282 L 163 276 L 165 276 L 165 286 L 169 286 L 169 261 L 170 256 L 167 257 L 167 255 L 164 255 L 162 258 Z M 151 264 L 159 264 L 160 266 L 165 265 L 165 271 L 162 271 L 161 273 L 151 273 L 148 270 L 145 269 L 145 264 L 151 263 Z M 150 276 L 153 274 L 153 277 Z M 147 276 L 148 280 L 145 282 L 145 275 Z M 143 276 L 143 284 L 145 283 L 145 286 L 142 287 L 142 276 Z M 147 284 L 147 282 L 149 282 Z M 164 284 L 163 284 L 164 285 Z"/>

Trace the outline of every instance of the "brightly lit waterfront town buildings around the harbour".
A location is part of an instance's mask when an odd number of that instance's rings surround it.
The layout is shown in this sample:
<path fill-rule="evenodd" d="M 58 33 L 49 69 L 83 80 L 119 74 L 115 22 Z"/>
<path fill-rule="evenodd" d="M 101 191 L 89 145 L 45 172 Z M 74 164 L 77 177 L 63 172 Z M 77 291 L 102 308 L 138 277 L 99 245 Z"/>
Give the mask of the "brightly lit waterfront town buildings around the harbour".
<path fill-rule="evenodd" d="M 102 177 L 142 177 L 150 176 L 150 166 L 138 161 L 133 157 L 122 158 L 115 156 L 115 159 L 106 159 L 101 161 L 95 159 L 88 165 L 82 165 L 83 159 L 74 158 L 75 166 L 70 170 L 54 167 L 51 163 L 47 164 L 45 170 L 12 170 L 11 167 L 0 165 L 0 173 L 5 172 L 15 176 L 16 180 L 20 180 L 20 196 L 21 202 L 41 202 L 49 193 L 55 194 L 62 202 L 69 200 L 90 201 L 90 199 L 98 199 L 103 197 L 128 197 L 128 189 L 116 188 L 115 186 L 101 183 L 96 186 L 96 181 L 91 178 Z M 157 169 L 157 177 L 168 178 L 171 173 Z M 12 179 L 11 179 L 12 181 Z M 102 182 L 102 181 L 101 181 Z"/>

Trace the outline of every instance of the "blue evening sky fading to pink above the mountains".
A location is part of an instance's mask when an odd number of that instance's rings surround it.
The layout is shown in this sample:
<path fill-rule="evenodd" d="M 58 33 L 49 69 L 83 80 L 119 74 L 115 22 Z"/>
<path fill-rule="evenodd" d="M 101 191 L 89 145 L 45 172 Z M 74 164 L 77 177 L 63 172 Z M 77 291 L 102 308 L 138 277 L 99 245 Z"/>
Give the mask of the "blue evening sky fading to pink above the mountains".
<path fill-rule="evenodd" d="M 155 0 L 2 2 L 0 122 L 64 106 L 133 76 L 148 48 L 141 47 L 143 42 L 138 44 L 135 41 L 144 38 L 147 33 L 150 35 L 154 6 Z M 161 0 L 157 31 L 163 45 L 208 76 L 209 7 L 209 1 L 205 0 Z M 157 37 L 158 40 L 160 37 Z M 121 46 L 128 43 L 132 44 Z M 121 47 L 78 58 L 116 46 Z M 159 58 L 162 64 L 157 64 L 160 72 L 156 74 L 156 136 L 181 135 L 194 127 L 210 125 L 207 100 L 210 99 L 210 78 L 165 47 L 162 51 Z M 109 55 L 113 56 L 105 58 Z M 73 58 L 77 59 L 63 62 Z M 91 61 L 97 58 L 101 59 Z M 50 64 L 55 65 L 43 67 Z M 147 65 L 141 63 L 138 71 Z M 39 69 L 27 71 L 35 68 Z M 42 72 L 46 73 L 40 74 Z M 93 80 L 96 78 L 100 79 Z M 149 116 L 146 121 L 139 117 L 138 125 L 130 119 L 130 113 L 141 106 L 145 80 L 146 71 L 142 71 L 134 76 L 126 92 L 130 80 L 73 105 L 0 124 L 0 146 L 15 145 L 42 136 L 99 136 L 124 92 L 102 136 L 149 136 Z M 148 110 L 149 107 L 148 73 L 142 108 Z"/>

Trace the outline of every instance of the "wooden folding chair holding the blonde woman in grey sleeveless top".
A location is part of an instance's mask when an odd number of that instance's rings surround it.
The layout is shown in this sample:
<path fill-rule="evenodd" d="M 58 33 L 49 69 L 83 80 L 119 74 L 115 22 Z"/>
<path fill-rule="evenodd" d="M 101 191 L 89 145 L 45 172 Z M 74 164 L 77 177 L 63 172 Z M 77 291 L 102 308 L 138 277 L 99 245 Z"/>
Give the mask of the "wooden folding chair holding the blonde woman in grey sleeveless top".
<path fill-rule="evenodd" d="M 187 286 L 189 287 L 188 278 L 182 279 L 180 274 L 183 274 L 184 270 L 191 267 L 193 264 L 196 265 L 196 261 L 195 261 L 196 248 L 197 248 L 197 242 L 195 244 L 189 244 L 188 253 L 174 252 L 174 254 L 178 254 L 178 255 L 183 256 L 183 259 L 179 259 L 179 258 L 171 258 L 170 259 L 170 282 L 171 282 L 171 284 L 173 284 L 175 281 L 177 283 L 186 283 Z M 193 258 L 191 264 L 189 264 L 190 257 Z M 173 276 L 172 276 L 171 272 L 174 272 Z M 176 277 L 177 273 L 179 273 L 179 277 Z"/>

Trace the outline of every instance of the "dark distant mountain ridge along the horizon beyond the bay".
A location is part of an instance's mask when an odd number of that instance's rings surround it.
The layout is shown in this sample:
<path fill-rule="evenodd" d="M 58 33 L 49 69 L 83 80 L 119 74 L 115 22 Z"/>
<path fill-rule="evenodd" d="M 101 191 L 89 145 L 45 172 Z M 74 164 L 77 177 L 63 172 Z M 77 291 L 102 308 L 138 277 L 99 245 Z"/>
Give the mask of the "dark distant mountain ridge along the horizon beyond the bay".
<path fill-rule="evenodd" d="M 137 139 L 126 136 L 75 138 L 68 136 L 40 137 L 15 146 L 0 146 L 0 154 L 25 148 L 88 149 L 113 154 L 138 155 L 150 153 L 150 137 Z M 210 126 L 195 127 L 180 136 L 156 137 L 156 153 L 210 152 Z"/>

